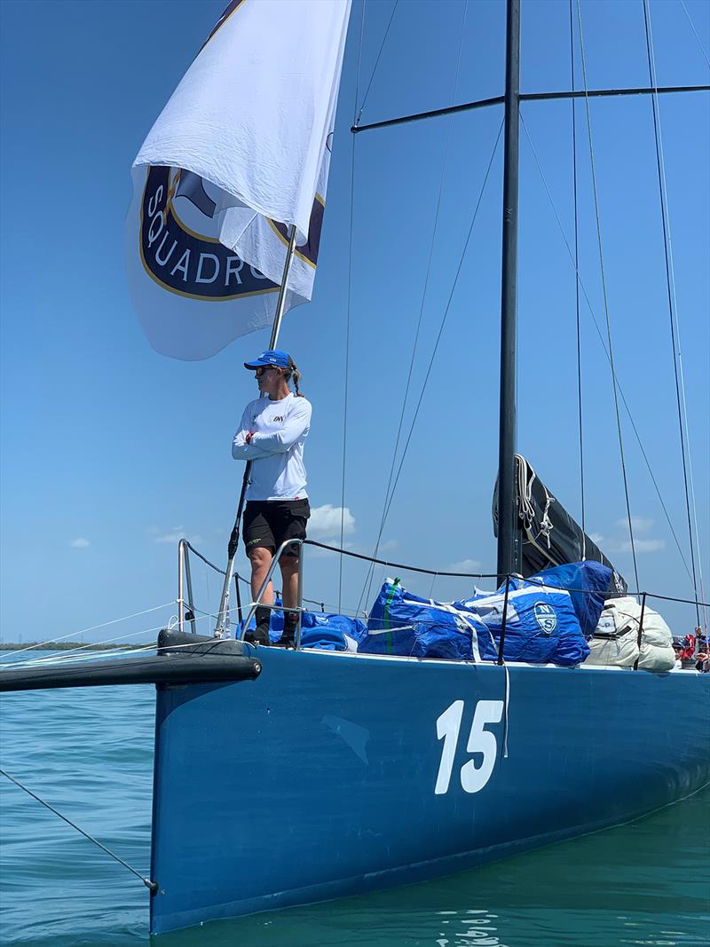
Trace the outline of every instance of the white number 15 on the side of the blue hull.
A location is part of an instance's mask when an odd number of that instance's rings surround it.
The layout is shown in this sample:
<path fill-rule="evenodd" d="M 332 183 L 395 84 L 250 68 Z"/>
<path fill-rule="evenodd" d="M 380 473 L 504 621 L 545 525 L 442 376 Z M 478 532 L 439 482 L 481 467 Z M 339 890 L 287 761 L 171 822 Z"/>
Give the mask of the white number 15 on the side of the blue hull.
<path fill-rule="evenodd" d="M 463 715 L 464 702 L 454 701 L 436 720 L 436 737 L 444 741 L 444 746 L 436 777 L 435 795 L 443 795 L 449 791 L 453 759 L 456 755 L 456 744 Z M 503 701 L 479 701 L 476 704 L 466 751 L 471 754 L 482 754 L 483 761 L 480 766 L 476 766 L 470 759 L 461 767 L 461 787 L 466 793 L 478 793 L 492 776 L 498 744 L 495 735 L 484 727 L 486 724 L 500 724 L 502 717 Z"/>

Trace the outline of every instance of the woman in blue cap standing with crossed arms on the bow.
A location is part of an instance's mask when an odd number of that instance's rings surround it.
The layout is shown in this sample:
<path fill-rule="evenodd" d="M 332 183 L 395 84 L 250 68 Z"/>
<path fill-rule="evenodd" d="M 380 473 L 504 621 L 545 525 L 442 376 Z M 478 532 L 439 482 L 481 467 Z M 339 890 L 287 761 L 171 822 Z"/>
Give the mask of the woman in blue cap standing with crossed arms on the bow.
<path fill-rule="evenodd" d="M 300 373 L 284 351 L 261 352 L 244 367 L 255 371 L 259 397 L 249 402 L 241 416 L 240 430 L 232 441 L 235 460 L 251 460 L 252 468 L 244 509 L 244 546 L 252 563 L 252 596 L 256 599 L 273 562 L 276 549 L 287 539 L 305 539 L 311 515 L 306 492 L 303 444 L 311 425 L 311 402 L 298 391 Z M 293 380 L 295 394 L 289 387 Z M 288 546 L 278 564 L 283 580 L 284 608 L 298 603 L 300 546 Z M 274 587 L 268 588 L 257 607 L 257 629 L 247 641 L 269 644 L 270 609 Z M 293 647 L 296 615 L 284 612 L 280 645 Z"/>

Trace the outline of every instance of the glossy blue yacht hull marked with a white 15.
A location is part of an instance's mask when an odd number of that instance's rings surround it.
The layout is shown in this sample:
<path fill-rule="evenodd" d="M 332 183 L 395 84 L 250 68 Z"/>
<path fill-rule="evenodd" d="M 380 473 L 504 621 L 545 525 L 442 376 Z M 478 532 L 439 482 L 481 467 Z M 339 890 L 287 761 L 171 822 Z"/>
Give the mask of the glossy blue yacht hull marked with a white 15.
<path fill-rule="evenodd" d="M 158 688 L 151 932 L 408 884 L 710 780 L 710 674 L 259 649 Z M 678 721 L 683 726 L 678 726 Z"/>

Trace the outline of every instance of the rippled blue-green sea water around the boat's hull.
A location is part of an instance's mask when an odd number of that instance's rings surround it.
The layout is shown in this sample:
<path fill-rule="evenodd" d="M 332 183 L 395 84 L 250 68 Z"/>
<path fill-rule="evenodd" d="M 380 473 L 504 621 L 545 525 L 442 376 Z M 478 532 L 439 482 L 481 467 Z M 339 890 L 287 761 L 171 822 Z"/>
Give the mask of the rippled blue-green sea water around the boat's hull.
<path fill-rule="evenodd" d="M 0 766 L 148 874 L 152 728 L 150 687 L 4 695 Z M 630 825 L 436 882 L 214 921 L 153 943 L 700 947 L 710 944 L 709 816 L 706 789 Z M 3 777 L 0 839 L 0 943 L 151 942 L 140 881 Z"/>

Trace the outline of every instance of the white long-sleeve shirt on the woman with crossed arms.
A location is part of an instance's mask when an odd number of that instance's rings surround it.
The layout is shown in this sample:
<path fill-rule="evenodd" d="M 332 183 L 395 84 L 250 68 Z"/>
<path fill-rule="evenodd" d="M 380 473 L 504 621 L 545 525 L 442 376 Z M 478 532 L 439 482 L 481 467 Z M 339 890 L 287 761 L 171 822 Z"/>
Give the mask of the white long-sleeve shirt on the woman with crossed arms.
<path fill-rule="evenodd" d="M 303 442 L 311 426 L 311 402 L 288 394 L 273 402 L 257 398 L 241 416 L 232 440 L 235 460 L 251 460 L 247 500 L 302 500 L 306 492 Z M 246 442 L 251 432 L 252 439 Z"/>

